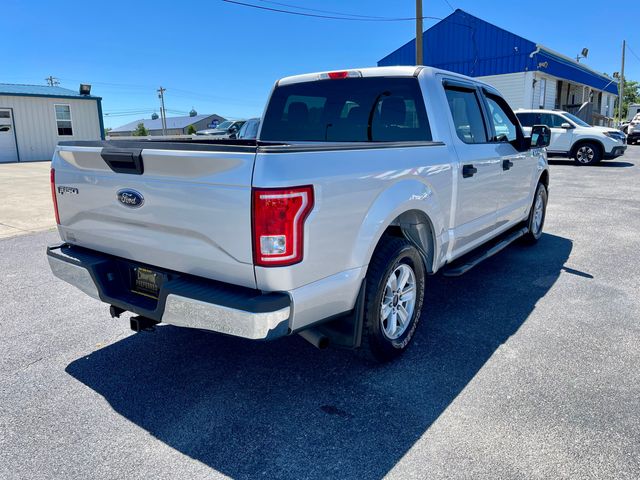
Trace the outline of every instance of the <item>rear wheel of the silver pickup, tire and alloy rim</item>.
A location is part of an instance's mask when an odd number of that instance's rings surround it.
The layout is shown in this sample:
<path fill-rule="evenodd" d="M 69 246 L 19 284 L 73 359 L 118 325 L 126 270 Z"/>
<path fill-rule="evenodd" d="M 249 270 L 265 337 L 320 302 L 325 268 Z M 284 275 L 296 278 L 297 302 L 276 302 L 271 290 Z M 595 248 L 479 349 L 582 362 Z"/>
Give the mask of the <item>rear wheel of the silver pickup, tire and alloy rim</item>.
<path fill-rule="evenodd" d="M 424 285 L 418 250 L 404 238 L 383 238 L 367 272 L 360 353 L 388 362 L 407 349 L 420 320 Z"/>

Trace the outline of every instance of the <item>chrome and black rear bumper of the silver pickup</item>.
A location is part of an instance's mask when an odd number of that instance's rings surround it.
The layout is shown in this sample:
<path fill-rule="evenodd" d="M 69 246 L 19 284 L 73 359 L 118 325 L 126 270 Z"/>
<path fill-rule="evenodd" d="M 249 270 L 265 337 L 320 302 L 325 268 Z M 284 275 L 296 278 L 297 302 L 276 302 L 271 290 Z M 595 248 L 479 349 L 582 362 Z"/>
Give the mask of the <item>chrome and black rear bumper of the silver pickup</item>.
<path fill-rule="evenodd" d="M 47 248 L 53 274 L 110 305 L 171 325 L 210 330 L 253 340 L 289 333 L 291 297 L 263 294 L 192 275 L 158 271 L 163 276 L 158 299 L 130 291 L 135 264 L 68 244 Z"/>

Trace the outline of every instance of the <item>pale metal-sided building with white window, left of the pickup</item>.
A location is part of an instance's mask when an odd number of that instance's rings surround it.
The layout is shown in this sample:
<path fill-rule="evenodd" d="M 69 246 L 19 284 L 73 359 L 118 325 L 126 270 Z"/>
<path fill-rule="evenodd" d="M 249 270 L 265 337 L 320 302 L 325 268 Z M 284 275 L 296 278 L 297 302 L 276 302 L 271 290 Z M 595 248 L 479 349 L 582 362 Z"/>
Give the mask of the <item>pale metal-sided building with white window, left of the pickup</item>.
<path fill-rule="evenodd" d="M 51 160 L 58 142 L 104 138 L 101 98 L 0 83 L 0 163 Z"/>

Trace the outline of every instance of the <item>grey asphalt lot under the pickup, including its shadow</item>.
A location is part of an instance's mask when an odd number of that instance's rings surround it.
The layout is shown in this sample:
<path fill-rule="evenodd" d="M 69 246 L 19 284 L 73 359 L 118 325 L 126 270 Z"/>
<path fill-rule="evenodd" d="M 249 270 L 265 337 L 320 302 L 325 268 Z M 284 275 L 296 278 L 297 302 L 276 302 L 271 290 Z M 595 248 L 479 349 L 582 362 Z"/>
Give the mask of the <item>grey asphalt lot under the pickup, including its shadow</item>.
<path fill-rule="evenodd" d="M 553 161 L 538 245 L 431 278 L 384 366 L 134 334 L 2 239 L 0 478 L 640 478 L 639 166 Z"/>

